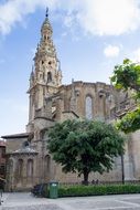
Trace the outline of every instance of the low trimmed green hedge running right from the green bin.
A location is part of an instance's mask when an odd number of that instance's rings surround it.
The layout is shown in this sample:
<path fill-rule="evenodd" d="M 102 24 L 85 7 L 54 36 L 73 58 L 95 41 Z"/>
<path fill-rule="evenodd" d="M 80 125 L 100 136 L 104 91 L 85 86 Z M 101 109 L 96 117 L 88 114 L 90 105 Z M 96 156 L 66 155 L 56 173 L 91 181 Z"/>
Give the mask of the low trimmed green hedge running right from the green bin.
<path fill-rule="evenodd" d="M 140 193 L 140 185 L 67 186 L 58 188 L 58 197 Z"/>

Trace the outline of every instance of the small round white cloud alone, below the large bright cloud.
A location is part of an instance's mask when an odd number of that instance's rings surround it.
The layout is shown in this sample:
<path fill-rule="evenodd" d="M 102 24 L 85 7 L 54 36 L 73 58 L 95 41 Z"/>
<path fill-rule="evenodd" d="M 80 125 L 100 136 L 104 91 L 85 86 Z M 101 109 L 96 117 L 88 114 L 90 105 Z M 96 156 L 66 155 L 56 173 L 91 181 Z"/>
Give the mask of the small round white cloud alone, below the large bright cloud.
<path fill-rule="evenodd" d="M 108 45 L 104 49 L 104 54 L 107 57 L 116 57 L 119 55 L 120 49 L 119 46 L 115 46 L 115 45 Z"/>

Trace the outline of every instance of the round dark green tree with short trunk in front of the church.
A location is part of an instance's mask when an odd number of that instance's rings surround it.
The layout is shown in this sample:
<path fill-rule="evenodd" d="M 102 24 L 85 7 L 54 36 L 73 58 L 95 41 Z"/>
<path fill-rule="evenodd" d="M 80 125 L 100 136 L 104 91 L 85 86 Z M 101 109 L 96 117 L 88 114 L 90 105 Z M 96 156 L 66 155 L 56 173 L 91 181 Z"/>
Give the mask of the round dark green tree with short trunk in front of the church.
<path fill-rule="evenodd" d="M 49 130 L 49 151 L 64 172 L 88 175 L 112 169 L 114 157 L 123 154 L 125 139 L 112 125 L 93 120 L 65 120 Z"/>

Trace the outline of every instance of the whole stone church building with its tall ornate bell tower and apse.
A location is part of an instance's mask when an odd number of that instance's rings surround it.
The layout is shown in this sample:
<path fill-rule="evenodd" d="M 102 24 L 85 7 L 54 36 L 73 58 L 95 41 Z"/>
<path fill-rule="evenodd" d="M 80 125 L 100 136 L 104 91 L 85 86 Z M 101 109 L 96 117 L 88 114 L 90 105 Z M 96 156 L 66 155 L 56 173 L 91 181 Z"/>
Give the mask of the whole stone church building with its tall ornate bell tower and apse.
<path fill-rule="evenodd" d="M 53 161 L 46 149 L 49 128 L 55 122 L 67 118 L 100 119 L 108 123 L 133 107 L 129 94 L 119 93 L 101 82 L 73 80 L 72 84 L 63 85 L 52 33 L 46 12 L 30 75 L 26 133 L 2 137 L 7 139 L 7 190 L 25 190 L 50 180 L 82 181 L 83 177 L 75 174 L 63 174 L 61 166 Z M 90 180 L 121 181 L 122 164 L 126 180 L 140 179 L 139 132 L 128 138 L 126 154 L 123 158 L 115 159 L 114 170 L 104 175 L 91 174 Z"/>

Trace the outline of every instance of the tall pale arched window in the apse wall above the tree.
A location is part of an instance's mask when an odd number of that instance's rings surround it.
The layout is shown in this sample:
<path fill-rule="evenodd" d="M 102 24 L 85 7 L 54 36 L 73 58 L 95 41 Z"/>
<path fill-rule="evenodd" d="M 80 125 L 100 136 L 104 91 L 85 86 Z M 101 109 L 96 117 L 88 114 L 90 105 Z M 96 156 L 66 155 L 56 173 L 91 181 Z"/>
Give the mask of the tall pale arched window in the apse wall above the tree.
<path fill-rule="evenodd" d="M 93 98 L 90 96 L 86 96 L 86 118 L 93 119 Z"/>

